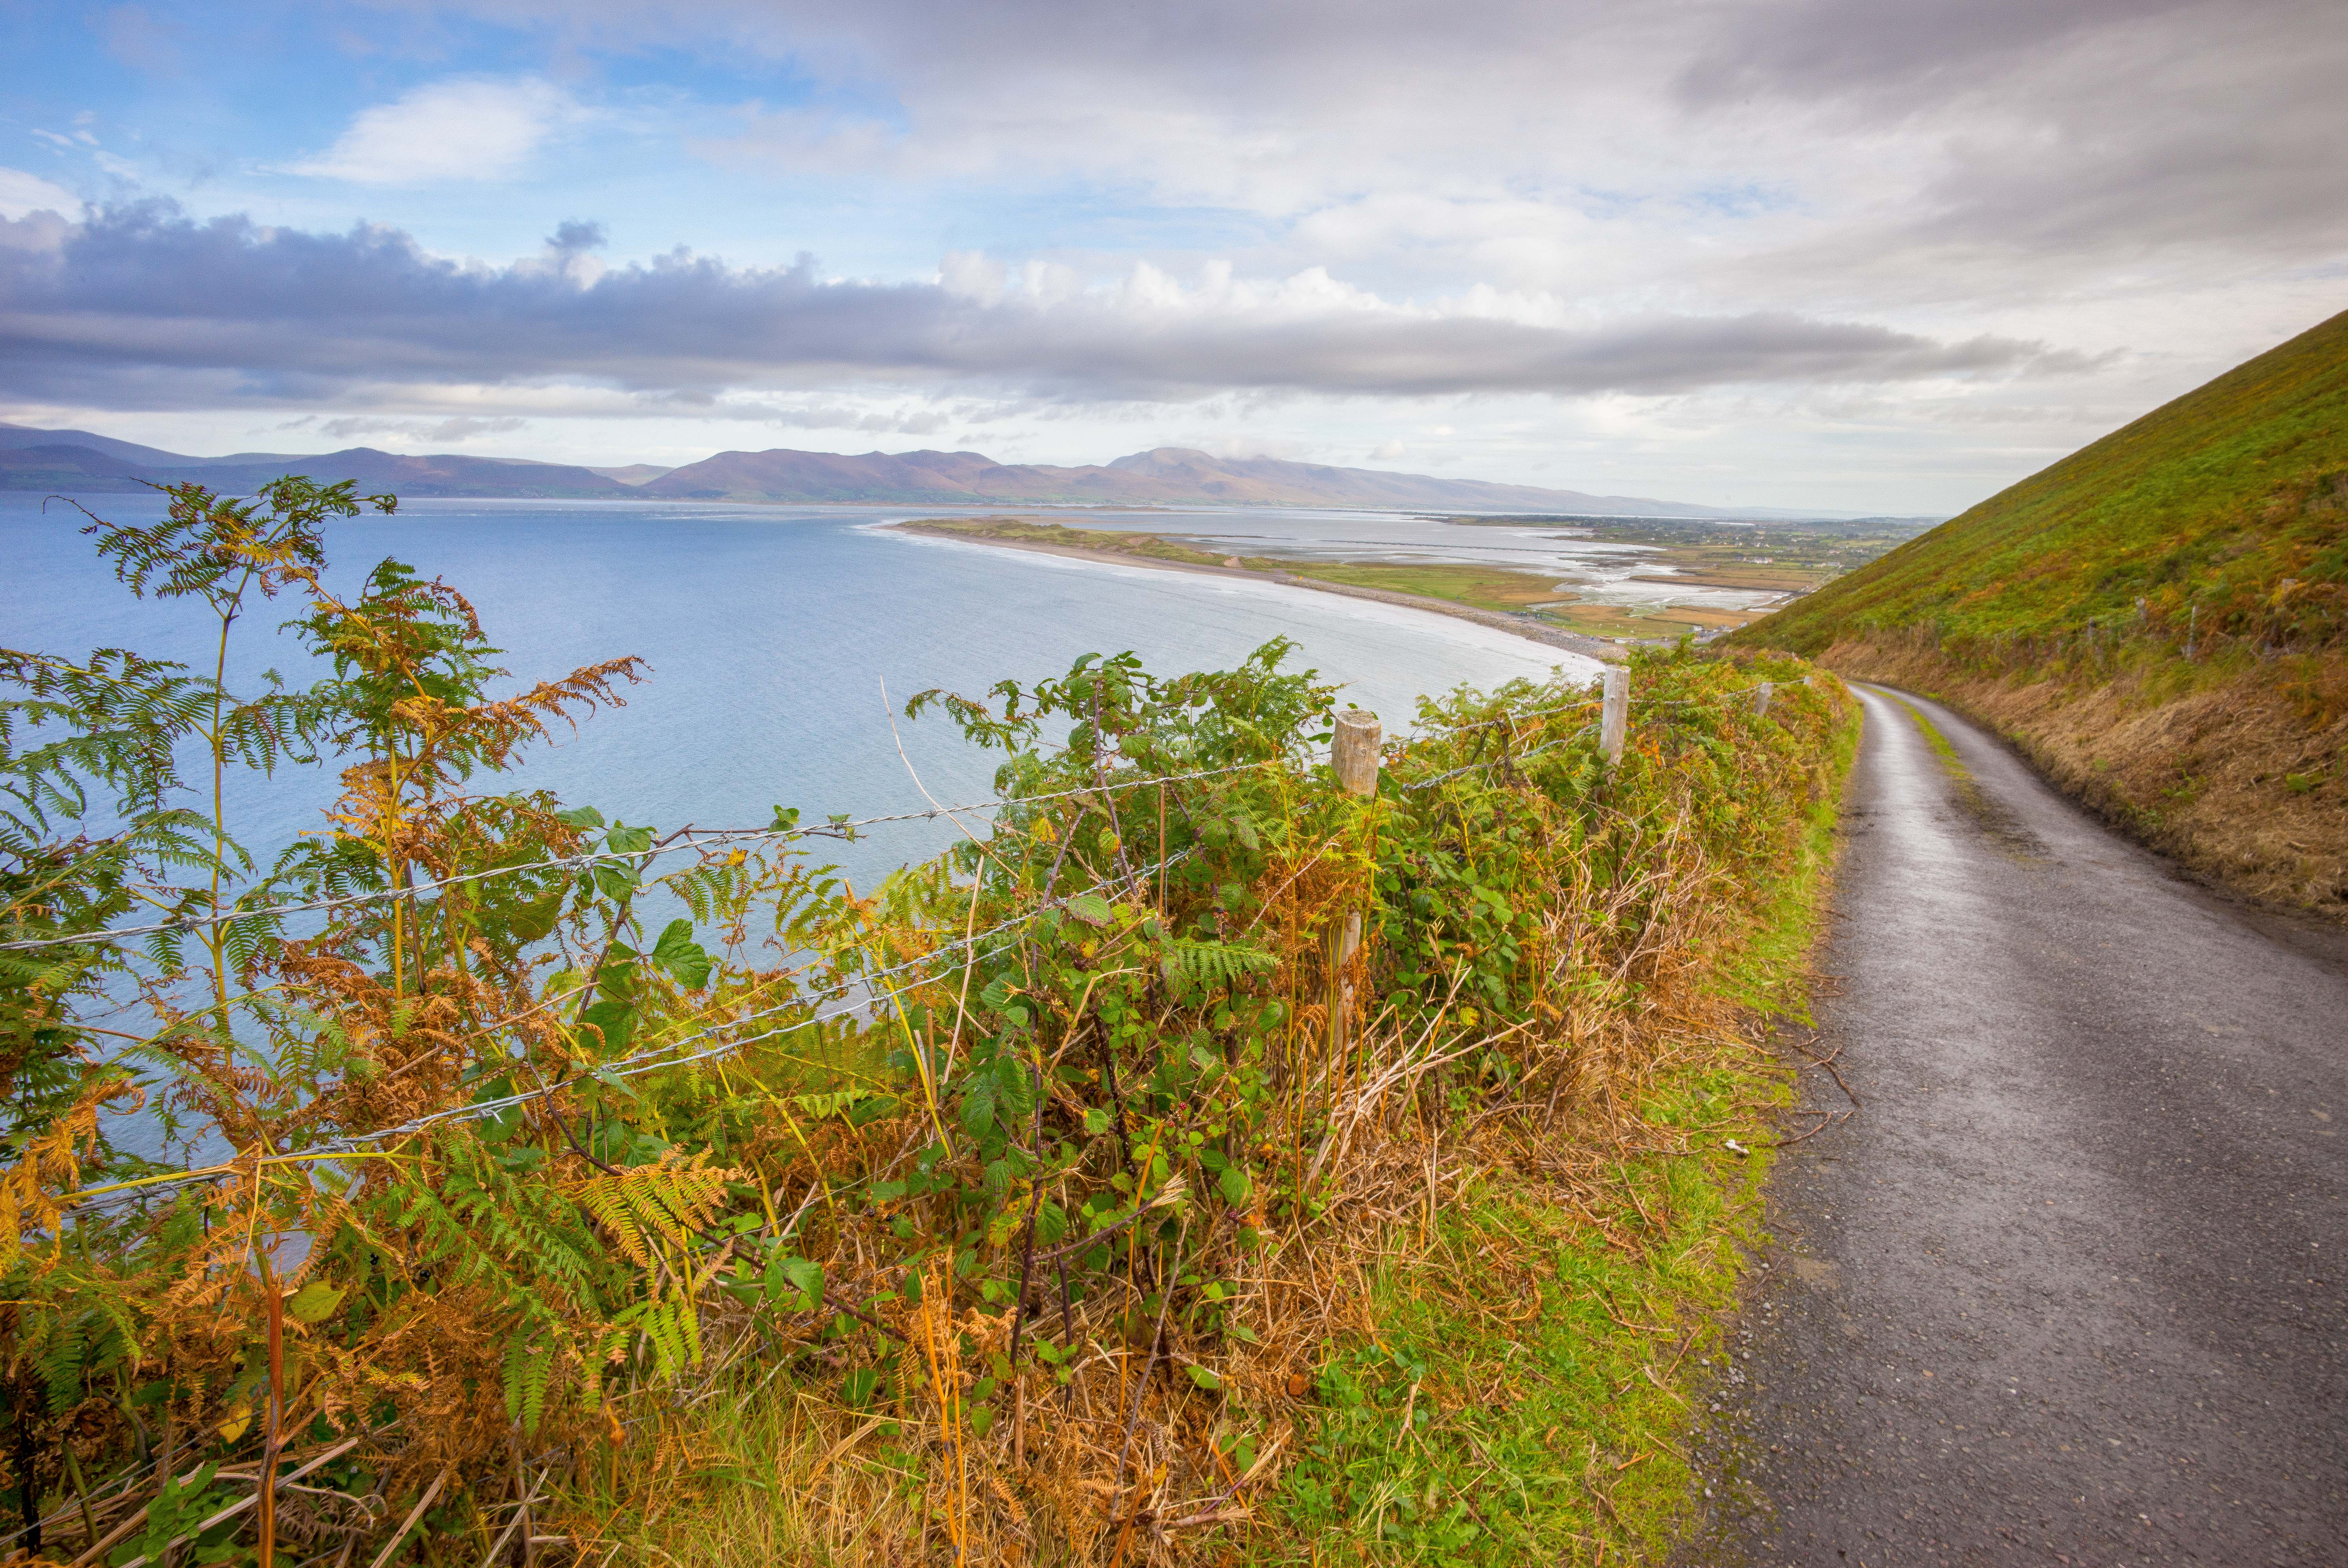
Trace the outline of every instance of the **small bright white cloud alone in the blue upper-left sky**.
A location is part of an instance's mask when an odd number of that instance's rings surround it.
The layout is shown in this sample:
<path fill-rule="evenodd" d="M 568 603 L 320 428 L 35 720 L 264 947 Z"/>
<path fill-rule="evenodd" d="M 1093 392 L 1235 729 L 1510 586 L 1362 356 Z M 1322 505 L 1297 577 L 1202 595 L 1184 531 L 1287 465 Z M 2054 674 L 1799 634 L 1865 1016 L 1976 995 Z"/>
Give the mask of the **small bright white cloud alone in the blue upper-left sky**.
<path fill-rule="evenodd" d="M 359 110 L 319 157 L 284 174 L 362 185 L 500 181 L 524 171 L 549 136 L 587 117 L 571 94 L 538 77 L 432 82 Z"/>

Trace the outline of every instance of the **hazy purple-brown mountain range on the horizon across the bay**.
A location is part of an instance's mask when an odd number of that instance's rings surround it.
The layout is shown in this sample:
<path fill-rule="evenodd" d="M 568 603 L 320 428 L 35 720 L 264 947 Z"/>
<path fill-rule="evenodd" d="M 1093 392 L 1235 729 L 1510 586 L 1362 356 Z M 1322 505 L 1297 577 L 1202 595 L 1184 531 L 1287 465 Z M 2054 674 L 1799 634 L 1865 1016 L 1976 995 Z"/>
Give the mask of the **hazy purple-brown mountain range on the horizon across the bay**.
<path fill-rule="evenodd" d="M 1050 467 L 996 462 L 979 453 L 718 453 L 662 469 L 575 467 L 528 458 L 404 458 L 352 446 L 338 453 L 230 453 L 188 458 L 117 441 L 87 430 L 0 425 L 0 491 L 136 491 L 146 484 L 195 481 L 214 491 L 251 491 L 279 474 L 322 484 L 357 479 L 362 491 L 399 495 L 512 495 L 620 500 L 763 500 L 880 505 L 1254 505 L 1367 507 L 1409 512 L 1545 512 L 1608 516 L 1820 516 L 1770 507 L 1693 507 L 1644 495 L 1587 495 L 1477 479 L 1388 474 L 1280 458 L 1214 458 L 1183 446 L 1118 458 L 1108 465 Z"/>

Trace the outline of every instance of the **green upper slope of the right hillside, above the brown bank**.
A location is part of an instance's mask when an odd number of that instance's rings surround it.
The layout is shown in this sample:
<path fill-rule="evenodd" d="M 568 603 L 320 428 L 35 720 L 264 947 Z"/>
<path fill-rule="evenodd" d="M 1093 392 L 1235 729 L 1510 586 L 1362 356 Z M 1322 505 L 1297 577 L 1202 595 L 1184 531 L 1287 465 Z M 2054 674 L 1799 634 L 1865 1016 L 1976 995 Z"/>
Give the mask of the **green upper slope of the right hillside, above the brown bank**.
<path fill-rule="evenodd" d="M 1817 655 L 1900 627 L 2040 638 L 2188 617 L 2263 646 L 2339 646 L 2348 312 L 1726 641 Z"/>

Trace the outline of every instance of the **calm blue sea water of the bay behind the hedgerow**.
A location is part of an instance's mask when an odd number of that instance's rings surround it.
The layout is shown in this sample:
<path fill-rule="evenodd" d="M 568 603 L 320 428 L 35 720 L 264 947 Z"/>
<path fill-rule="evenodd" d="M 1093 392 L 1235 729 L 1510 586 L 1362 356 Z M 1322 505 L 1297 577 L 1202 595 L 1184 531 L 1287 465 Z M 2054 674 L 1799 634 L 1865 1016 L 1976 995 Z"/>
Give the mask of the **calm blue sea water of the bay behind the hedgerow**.
<path fill-rule="evenodd" d="M 89 495 L 108 521 L 153 521 L 155 495 Z M 500 695 L 573 667 L 634 655 L 627 707 L 556 725 L 507 786 L 556 791 L 608 819 L 763 826 L 777 805 L 805 819 L 916 812 L 991 796 L 998 756 L 942 714 L 909 723 L 904 699 L 944 685 L 981 695 L 1010 676 L 1064 674 L 1085 653 L 1141 655 L 1158 674 L 1228 669 L 1287 636 L 1291 667 L 1343 685 L 1390 735 L 1416 702 L 1456 685 L 1529 676 L 1587 681 L 1583 660 L 1425 610 L 1143 566 L 930 540 L 880 523 L 935 514 L 876 507 L 709 502 L 411 500 L 326 530 L 329 589 L 355 596 L 383 556 L 441 577 L 479 610 L 512 671 Z M 38 495 L 0 495 L 0 646 L 87 657 L 131 648 L 211 669 L 214 627 L 197 601 L 134 599 L 77 528 L 89 519 Z M 1071 519 L 1078 521 L 1078 519 Z M 1143 519 L 1118 519 L 1141 526 Z M 1158 519 L 1158 526 L 1176 519 Z M 1214 533 L 1294 535 L 1294 512 L 1179 519 Z M 1324 528 L 1359 526 L 1331 521 Z M 1172 530 L 1172 528 L 1169 528 Z M 315 667 L 282 631 L 291 599 L 254 601 L 230 641 L 230 683 Z M 902 746 L 902 753 L 899 753 Z M 190 756 L 188 768 L 202 765 Z M 916 777 L 918 775 L 918 777 Z M 331 770 L 239 775 L 232 829 L 261 857 L 322 826 Z M 916 822 L 826 845 L 857 885 L 935 854 L 956 829 Z"/>

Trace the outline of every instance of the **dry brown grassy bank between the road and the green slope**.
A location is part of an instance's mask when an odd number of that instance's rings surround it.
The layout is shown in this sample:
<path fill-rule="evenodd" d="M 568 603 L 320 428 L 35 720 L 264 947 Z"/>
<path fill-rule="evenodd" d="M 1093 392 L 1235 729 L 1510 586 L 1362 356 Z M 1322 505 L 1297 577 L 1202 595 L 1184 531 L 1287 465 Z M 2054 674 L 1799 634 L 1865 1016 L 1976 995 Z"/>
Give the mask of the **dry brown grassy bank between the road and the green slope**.
<path fill-rule="evenodd" d="M 2123 662 L 1975 671 L 1930 641 L 1846 638 L 1846 676 L 1932 695 L 2010 739 L 2057 786 L 2252 899 L 2348 920 L 2348 655 L 2217 669 Z"/>

